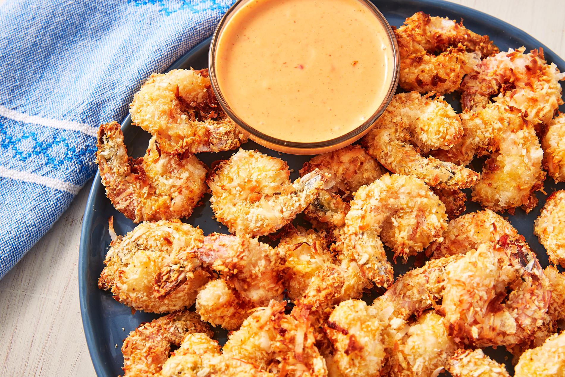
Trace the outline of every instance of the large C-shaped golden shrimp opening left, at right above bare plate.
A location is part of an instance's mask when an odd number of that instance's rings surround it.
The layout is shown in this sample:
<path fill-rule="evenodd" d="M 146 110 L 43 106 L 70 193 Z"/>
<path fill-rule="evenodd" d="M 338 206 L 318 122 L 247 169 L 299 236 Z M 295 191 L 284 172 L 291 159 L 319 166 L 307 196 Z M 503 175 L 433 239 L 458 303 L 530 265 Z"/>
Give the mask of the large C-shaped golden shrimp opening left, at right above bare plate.
<path fill-rule="evenodd" d="M 490 154 L 472 200 L 493 211 L 527 213 L 537 205 L 536 190 L 544 188 L 543 150 L 531 122 L 515 107 L 491 103 L 460 114 L 465 134 L 450 150 L 436 157 L 466 166 L 475 155 Z"/>

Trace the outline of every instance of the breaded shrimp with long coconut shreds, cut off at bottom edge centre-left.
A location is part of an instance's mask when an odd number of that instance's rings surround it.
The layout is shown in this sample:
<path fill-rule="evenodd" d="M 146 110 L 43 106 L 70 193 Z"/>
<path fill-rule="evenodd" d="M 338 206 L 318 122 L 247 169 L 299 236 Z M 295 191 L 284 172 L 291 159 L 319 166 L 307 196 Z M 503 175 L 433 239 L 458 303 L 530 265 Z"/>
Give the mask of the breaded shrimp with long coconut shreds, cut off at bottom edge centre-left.
<path fill-rule="evenodd" d="M 275 375 L 326 376 L 324 358 L 314 345 L 306 312 L 285 314 L 271 301 L 255 309 L 224 345 L 224 356 L 245 360 Z"/>

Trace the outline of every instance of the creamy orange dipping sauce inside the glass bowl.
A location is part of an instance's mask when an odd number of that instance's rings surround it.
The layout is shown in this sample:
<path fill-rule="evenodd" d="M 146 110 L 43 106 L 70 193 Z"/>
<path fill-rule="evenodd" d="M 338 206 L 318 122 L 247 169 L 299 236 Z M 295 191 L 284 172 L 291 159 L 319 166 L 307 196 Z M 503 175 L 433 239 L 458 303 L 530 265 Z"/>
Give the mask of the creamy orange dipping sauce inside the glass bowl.
<path fill-rule="evenodd" d="M 228 105 L 251 127 L 294 142 L 331 140 L 383 102 L 392 46 L 355 0 L 255 0 L 218 41 L 216 76 Z"/>

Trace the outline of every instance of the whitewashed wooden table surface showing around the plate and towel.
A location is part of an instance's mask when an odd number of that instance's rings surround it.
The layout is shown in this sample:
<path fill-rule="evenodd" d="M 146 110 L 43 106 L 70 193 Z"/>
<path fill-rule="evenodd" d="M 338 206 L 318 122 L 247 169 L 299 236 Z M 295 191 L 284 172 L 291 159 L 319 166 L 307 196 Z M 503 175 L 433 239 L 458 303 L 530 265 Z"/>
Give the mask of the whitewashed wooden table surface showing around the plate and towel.
<path fill-rule="evenodd" d="M 561 0 L 452 2 L 502 19 L 565 58 Z M 0 376 L 96 375 L 82 330 L 78 271 L 82 216 L 91 184 L 0 280 Z"/>

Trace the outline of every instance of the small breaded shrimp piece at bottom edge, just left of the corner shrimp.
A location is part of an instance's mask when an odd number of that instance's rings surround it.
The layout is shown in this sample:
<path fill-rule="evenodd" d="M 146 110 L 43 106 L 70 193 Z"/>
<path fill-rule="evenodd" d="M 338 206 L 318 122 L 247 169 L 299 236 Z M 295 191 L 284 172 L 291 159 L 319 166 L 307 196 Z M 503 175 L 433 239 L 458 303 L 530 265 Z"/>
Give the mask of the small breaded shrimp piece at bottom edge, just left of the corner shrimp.
<path fill-rule="evenodd" d="M 505 365 L 486 356 L 482 349 L 458 349 L 447 360 L 446 369 L 453 377 L 510 377 Z"/>

